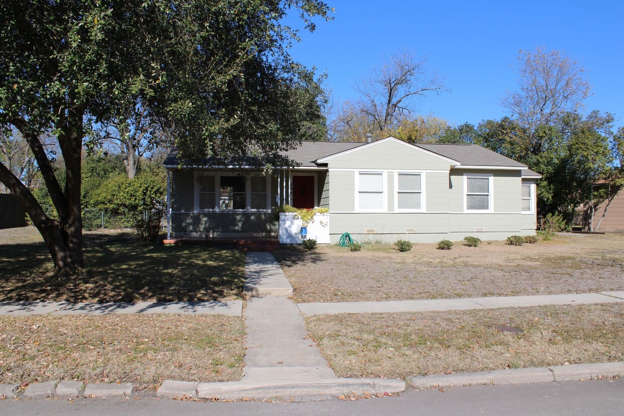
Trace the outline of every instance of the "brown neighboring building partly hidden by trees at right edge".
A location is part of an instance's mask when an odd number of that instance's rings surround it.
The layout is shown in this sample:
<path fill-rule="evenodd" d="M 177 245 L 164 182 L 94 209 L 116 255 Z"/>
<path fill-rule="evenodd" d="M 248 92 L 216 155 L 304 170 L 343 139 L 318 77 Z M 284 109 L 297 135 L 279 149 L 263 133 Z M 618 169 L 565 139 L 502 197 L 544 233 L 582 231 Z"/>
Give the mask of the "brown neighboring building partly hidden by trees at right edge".
<path fill-rule="evenodd" d="M 599 183 L 604 186 L 607 183 Z M 583 204 L 583 229 L 587 231 L 624 231 L 624 190 L 621 188 L 608 192 L 608 198 L 594 206 Z M 592 215 L 593 214 L 593 215 Z"/>

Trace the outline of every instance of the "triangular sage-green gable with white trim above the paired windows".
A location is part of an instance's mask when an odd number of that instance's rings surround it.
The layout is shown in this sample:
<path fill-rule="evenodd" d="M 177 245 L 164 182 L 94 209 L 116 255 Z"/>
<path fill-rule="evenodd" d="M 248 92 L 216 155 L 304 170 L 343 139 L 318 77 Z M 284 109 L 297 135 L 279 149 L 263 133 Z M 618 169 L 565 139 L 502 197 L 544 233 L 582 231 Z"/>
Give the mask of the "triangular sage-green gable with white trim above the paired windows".
<path fill-rule="evenodd" d="M 388 140 L 328 160 L 329 168 L 449 170 L 451 163 L 419 148 Z"/>

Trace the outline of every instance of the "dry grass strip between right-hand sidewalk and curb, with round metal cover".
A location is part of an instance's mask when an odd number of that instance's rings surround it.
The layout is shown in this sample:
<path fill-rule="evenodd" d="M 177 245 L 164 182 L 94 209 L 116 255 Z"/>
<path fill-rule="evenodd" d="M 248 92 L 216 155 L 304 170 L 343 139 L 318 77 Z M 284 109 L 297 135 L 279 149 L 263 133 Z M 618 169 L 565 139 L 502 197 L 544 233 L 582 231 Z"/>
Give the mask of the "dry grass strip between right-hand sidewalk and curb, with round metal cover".
<path fill-rule="evenodd" d="M 408 377 L 624 359 L 624 305 L 341 314 L 307 319 L 339 377 Z M 510 334 L 495 329 L 510 325 Z"/>

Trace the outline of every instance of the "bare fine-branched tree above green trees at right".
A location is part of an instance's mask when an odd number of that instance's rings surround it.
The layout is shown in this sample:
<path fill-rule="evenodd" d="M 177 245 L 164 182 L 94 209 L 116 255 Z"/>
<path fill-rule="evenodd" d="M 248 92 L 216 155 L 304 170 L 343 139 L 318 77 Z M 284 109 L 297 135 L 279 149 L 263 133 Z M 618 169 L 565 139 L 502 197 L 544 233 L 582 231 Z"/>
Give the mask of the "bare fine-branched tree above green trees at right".
<path fill-rule="evenodd" d="M 530 131 L 556 122 L 566 112 L 578 112 L 590 95 L 585 70 L 562 51 L 547 52 L 543 46 L 534 52 L 520 50 L 517 70 L 518 90 L 501 104 Z"/>

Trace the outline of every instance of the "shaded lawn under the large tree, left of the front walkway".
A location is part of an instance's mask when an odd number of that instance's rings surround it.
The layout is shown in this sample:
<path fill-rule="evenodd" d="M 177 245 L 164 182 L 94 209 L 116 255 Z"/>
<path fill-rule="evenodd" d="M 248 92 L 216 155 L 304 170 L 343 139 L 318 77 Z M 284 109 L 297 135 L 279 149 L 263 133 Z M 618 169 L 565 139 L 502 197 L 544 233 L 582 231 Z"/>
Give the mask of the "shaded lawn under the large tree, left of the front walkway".
<path fill-rule="evenodd" d="M 43 243 L 0 246 L 0 301 L 138 302 L 240 298 L 245 254 L 85 234 L 84 268 L 54 276 Z"/>

